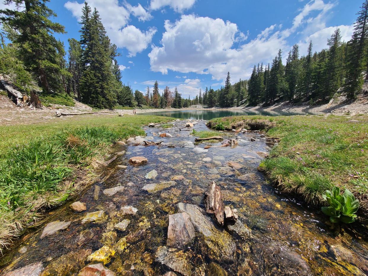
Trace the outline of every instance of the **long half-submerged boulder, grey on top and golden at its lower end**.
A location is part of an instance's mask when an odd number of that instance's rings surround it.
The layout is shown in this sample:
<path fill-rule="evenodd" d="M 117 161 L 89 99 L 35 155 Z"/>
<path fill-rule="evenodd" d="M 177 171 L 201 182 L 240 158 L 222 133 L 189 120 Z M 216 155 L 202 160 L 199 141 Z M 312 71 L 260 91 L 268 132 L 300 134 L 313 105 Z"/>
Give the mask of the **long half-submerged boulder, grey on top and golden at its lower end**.
<path fill-rule="evenodd" d="M 212 220 L 204 215 L 197 205 L 178 203 L 178 211 L 188 214 L 195 231 L 199 235 L 202 252 L 217 262 L 233 262 L 236 245 L 227 231 L 218 230 Z"/>

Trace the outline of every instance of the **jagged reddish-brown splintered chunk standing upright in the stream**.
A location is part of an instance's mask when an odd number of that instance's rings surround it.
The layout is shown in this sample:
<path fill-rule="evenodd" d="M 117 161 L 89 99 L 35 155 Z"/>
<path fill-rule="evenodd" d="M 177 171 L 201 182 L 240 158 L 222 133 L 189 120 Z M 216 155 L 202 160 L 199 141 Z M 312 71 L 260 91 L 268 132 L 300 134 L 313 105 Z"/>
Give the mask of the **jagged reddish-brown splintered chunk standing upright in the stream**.
<path fill-rule="evenodd" d="M 215 181 L 208 185 L 204 198 L 206 212 L 213 214 L 214 219 L 221 226 L 224 225 L 224 202 L 220 187 L 216 185 Z"/>

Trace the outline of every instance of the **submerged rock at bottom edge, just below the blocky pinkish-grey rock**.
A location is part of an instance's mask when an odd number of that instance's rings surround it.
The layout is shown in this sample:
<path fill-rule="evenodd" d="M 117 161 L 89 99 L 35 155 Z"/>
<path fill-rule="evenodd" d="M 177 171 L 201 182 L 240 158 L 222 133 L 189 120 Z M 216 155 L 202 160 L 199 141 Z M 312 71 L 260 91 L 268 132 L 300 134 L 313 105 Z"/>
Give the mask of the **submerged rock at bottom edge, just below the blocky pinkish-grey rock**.
<path fill-rule="evenodd" d="M 185 276 L 191 275 L 193 268 L 188 261 L 189 258 L 190 256 L 177 248 L 160 246 L 156 251 L 156 261 Z"/>

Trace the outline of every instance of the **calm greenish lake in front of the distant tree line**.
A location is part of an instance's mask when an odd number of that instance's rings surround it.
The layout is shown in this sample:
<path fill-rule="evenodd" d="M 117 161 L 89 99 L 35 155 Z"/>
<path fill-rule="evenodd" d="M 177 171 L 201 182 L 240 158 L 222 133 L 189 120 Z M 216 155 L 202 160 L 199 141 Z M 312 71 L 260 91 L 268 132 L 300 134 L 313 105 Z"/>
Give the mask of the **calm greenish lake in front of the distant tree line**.
<path fill-rule="evenodd" d="M 212 109 L 212 110 L 180 110 L 180 111 L 158 111 L 140 113 L 140 115 L 167 116 L 180 119 L 193 120 L 211 120 L 213 118 L 241 115 L 264 115 L 264 116 L 291 116 L 305 114 L 323 114 L 323 113 L 304 113 L 304 112 L 283 112 L 283 111 L 250 111 L 234 109 Z"/>

